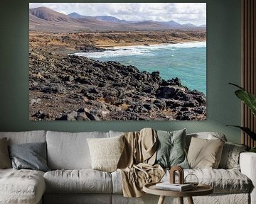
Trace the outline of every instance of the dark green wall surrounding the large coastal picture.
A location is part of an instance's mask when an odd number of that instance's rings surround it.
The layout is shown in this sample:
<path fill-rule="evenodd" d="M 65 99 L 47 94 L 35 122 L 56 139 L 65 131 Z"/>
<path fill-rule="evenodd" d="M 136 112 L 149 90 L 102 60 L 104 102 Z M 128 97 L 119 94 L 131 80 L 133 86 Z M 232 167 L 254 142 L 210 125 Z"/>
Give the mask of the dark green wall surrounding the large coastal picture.
<path fill-rule="evenodd" d="M 32 1 L 32 2 L 43 2 Z M 47 2 L 47 1 L 46 1 Z M 50 1 L 70 2 L 70 1 Z M 89 2 L 89 1 L 75 1 Z M 101 1 L 107 2 L 107 1 Z M 110 2 L 110 1 L 109 1 Z M 111 1 L 121 2 L 121 1 Z M 137 1 L 122 1 L 137 2 Z M 143 2 L 143 1 L 139 1 Z M 156 2 L 146 0 L 144 2 Z M 162 2 L 183 2 L 162 1 Z M 240 101 L 228 82 L 240 84 L 240 0 L 186 1 L 207 3 L 207 118 L 200 122 L 183 121 L 102 121 L 36 122 L 28 120 L 28 0 L 2 0 L 0 12 L 0 131 L 19 130 L 157 130 L 188 132 L 219 131 L 231 142 L 240 142 L 240 131 L 225 127 L 240 125 Z"/>

